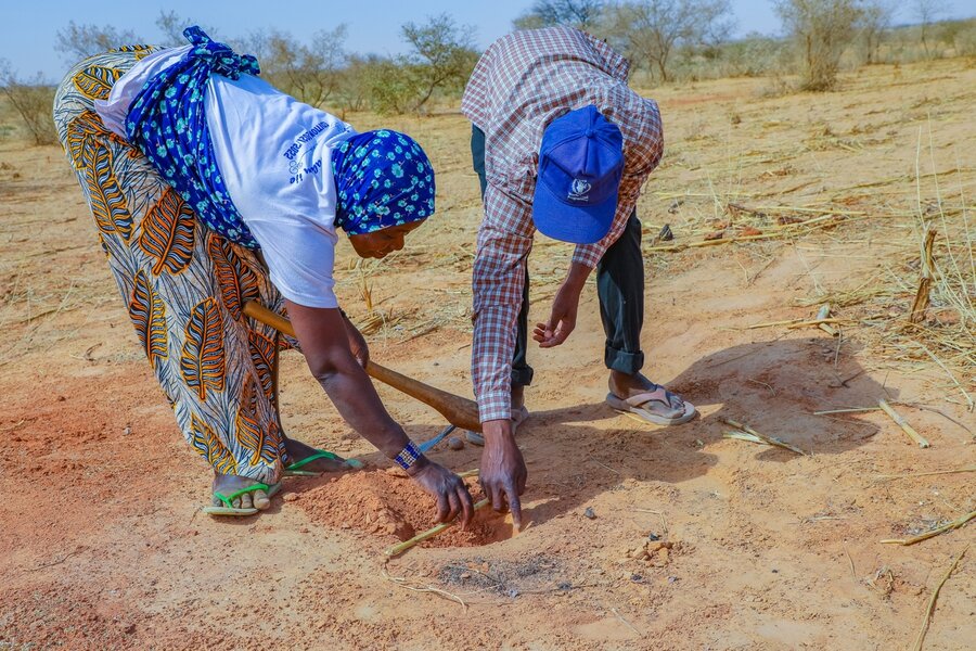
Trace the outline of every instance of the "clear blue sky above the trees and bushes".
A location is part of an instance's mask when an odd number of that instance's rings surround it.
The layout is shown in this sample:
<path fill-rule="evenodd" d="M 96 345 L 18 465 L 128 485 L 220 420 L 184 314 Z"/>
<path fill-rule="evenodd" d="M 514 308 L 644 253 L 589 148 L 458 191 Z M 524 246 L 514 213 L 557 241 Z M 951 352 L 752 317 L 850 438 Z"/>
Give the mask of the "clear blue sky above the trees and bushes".
<path fill-rule="evenodd" d="M 901 2 L 896 21 L 911 22 L 912 4 Z M 152 41 L 158 37 L 154 23 L 162 9 L 214 25 L 223 37 L 277 28 L 303 39 L 318 29 L 345 23 L 348 27 L 346 44 L 350 51 L 377 54 L 403 51 L 400 40 L 403 23 L 423 22 L 428 15 L 447 12 L 459 23 L 474 25 L 478 43 L 484 48 L 509 31 L 513 18 L 530 5 L 531 0 L 0 0 L 3 24 L 0 59 L 10 61 L 22 75 L 39 71 L 54 80 L 67 67 L 53 44 L 56 31 L 68 21 L 111 24 L 119 29 L 131 29 Z M 943 5 L 945 17 L 976 14 L 973 0 L 945 0 Z M 732 7 L 737 21 L 736 35 L 748 31 L 775 34 L 779 30 L 771 0 L 732 0 Z"/>

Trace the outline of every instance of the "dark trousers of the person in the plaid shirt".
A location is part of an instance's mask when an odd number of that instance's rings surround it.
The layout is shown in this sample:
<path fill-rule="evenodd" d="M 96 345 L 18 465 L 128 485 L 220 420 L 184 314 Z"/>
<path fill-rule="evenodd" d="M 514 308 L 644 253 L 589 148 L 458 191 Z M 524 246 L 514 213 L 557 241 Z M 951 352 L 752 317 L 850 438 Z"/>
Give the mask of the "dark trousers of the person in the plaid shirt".
<path fill-rule="evenodd" d="M 485 176 L 485 132 L 471 127 L 471 156 L 481 184 L 481 199 L 488 180 Z M 528 350 L 528 266 L 522 290 L 522 310 L 515 334 L 515 355 L 512 358 L 512 384 L 526 386 L 532 382 L 532 367 L 526 361 Z M 644 258 L 641 255 L 641 222 L 634 210 L 627 220 L 620 238 L 606 250 L 596 265 L 596 295 L 600 298 L 600 319 L 606 334 L 604 363 L 606 368 L 633 374 L 644 366 L 641 352 L 641 328 L 644 326 Z"/>

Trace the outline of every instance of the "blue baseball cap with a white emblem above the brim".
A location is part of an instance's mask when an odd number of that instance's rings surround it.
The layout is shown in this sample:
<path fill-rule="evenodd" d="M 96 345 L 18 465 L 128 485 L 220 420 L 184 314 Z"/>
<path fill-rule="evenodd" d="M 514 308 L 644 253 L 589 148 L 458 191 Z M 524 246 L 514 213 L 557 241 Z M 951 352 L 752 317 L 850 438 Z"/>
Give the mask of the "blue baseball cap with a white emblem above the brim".
<path fill-rule="evenodd" d="M 599 242 L 614 221 L 622 174 L 624 136 L 596 106 L 552 120 L 539 149 L 536 228 L 563 242 Z"/>

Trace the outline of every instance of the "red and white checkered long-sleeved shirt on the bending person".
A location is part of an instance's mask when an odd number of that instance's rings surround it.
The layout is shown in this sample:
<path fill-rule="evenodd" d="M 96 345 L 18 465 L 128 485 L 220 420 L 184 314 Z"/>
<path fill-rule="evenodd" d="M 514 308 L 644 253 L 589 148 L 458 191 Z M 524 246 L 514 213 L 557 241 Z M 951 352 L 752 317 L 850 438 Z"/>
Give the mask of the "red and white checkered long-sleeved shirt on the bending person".
<path fill-rule="evenodd" d="M 573 261 L 593 268 L 617 241 L 641 186 L 664 149 L 653 100 L 627 87 L 630 64 L 606 43 L 569 27 L 516 31 L 475 66 L 461 111 L 485 131 L 485 218 L 474 264 L 472 379 L 481 421 L 511 418 L 511 369 L 525 264 L 532 248 L 532 194 L 542 131 L 593 104 L 624 135 L 624 178 L 606 237 L 578 245 Z"/>

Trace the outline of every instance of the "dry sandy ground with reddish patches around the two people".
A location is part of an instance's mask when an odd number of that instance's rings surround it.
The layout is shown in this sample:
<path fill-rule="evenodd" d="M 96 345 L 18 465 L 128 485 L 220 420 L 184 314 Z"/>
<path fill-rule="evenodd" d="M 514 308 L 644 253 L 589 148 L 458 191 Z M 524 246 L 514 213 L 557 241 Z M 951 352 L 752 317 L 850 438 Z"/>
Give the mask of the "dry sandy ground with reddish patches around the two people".
<path fill-rule="evenodd" d="M 911 271 L 917 200 L 958 207 L 976 194 L 976 69 L 878 66 L 826 95 L 765 97 L 768 86 L 648 92 L 668 152 L 640 204 L 647 372 L 695 403 L 701 419 L 654 429 L 602 403 L 591 286 L 570 341 L 531 350 L 532 416 L 518 434 L 528 528 L 512 537 L 505 518 L 483 512 L 472 533 L 389 563 L 383 550 L 429 526 L 433 508 L 341 421 L 295 353 L 282 369 L 291 435 L 374 470 L 290 480 L 256 518 L 198 512 L 207 469 L 154 385 L 67 163 L 56 148 L 0 144 L 0 649 L 909 648 L 976 524 L 912 547 L 879 540 L 976 509 L 976 475 L 878 475 L 972 465 L 976 418 L 942 369 L 896 359 L 898 341 L 877 329 L 845 327 L 838 341 L 744 327 L 810 317 L 816 307 L 801 303 L 872 279 L 897 284 Z M 361 128 L 380 122 L 347 117 Z M 467 126 L 453 113 L 394 123 L 432 152 L 439 215 L 383 263 L 356 268 L 343 245 L 341 299 L 364 319 L 371 288 L 387 319 L 371 337 L 374 358 L 471 395 L 479 205 Z M 939 173 L 940 194 L 930 177 L 916 187 L 916 163 Z M 729 202 L 833 202 L 801 216 L 845 206 L 860 217 L 789 239 L 651 251 L 665 222 L 678 243 L 729 226 L 712 224 L 729 219 Z M 946 226 L 958 234 L 960 220 L 956 212 Z M 534 318 L 569 254 L 539 239 Z M 897 316 L 911 292 L 836 314 Z M 972 353 L 948 366 L 972 394 L 971 362 Z M 444 425 L 380 391 L 415 438 Z M 958 423 L 898 407 L 932 442 L 922 450 L 879 412 L 811 413 L 886 396 Z M 811 456 L 723 439 L 722 418 Z M 461 471 L 479 455 L 441 446 L 434 457 Z M 650 560 L 632 558 L 648 536 L 659 538 Z M 925 648 L 973 640 L 976 549 L 942 588 Z"/>

